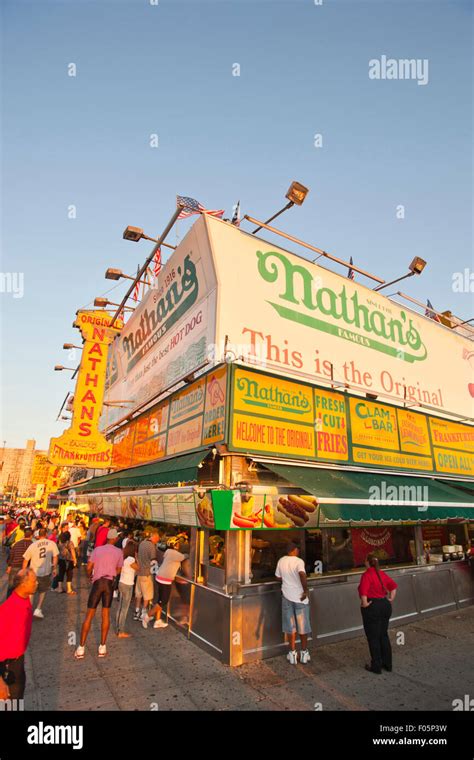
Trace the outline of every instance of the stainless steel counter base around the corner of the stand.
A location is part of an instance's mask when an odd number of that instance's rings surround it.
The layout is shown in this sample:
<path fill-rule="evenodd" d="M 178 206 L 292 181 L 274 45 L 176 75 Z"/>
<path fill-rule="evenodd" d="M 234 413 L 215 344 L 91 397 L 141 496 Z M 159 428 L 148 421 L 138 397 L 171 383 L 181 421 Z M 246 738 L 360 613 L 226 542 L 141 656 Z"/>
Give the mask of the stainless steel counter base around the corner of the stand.
<path fill-rule="evenodd" d="M 391 627 L 474 604 L 467 562 L 388 569 L 398 584 Z M 361 573 L 309 578 L 313 645 L 363 634 L 357 586 Z M 232 595 L 180 579 L 169 617 L 198 646 L 229 665 L 282 654 L 281 590 L 277 582 L 241 585 Z"/>

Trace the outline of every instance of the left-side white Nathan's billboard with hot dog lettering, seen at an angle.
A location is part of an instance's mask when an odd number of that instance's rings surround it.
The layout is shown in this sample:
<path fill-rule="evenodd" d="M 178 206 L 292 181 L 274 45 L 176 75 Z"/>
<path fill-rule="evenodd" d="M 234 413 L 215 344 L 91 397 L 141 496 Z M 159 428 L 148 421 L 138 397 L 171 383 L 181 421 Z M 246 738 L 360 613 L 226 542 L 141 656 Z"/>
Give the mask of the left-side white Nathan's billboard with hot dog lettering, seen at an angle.
<path fill-rule="evenodd" d="M 198 237 L 196 229 L 201 229 Z M 208 366 L 216 280 L 205 228 L 194 225 L 160 271 L 110 351 L 101 427 L 115 424 L 167 388 Z"/>

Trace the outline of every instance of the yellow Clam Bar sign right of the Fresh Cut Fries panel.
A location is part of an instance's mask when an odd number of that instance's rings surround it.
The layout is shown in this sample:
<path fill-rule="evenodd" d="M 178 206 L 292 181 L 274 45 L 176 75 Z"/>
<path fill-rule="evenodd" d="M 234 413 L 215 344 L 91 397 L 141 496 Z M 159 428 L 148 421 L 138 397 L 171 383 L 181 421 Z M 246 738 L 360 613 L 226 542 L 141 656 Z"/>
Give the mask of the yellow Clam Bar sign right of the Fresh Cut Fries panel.
<path fill-rule="evenodd" d="M 352 443 L 399 451 L 397 410 L 385 404 L 351 398 Z"/>

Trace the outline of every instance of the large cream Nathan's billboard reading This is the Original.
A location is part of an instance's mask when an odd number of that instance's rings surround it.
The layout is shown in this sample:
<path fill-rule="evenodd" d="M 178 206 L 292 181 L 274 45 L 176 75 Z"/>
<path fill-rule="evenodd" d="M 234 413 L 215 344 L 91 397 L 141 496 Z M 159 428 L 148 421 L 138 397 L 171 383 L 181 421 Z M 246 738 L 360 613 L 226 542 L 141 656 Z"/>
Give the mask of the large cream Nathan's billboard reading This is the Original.
<path fill-rule="evenodd" d="M 474 417 L 467 338 L 234 225 L 206 216 L 195 228 L 217 276 L 216 345 L 229 355 Z"/>

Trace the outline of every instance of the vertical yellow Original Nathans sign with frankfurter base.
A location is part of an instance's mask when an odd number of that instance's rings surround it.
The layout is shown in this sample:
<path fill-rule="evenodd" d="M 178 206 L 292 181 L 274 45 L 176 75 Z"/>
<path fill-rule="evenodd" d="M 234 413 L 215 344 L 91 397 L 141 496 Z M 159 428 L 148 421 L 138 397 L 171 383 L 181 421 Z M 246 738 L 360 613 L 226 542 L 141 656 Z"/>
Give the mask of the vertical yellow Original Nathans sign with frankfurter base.
<path fill-rule="evenodd" d="M 59 436 L 51 438 L 48 459 L 63 466 L 87 465 L 97 469 L 110 467 L 112 444 L 99 432 L 105 371 L 109 345 L 123 328 L 106 311 L 78 311 L 74 327 L 84 341 L 77 375 L 72 410 L 72 424 Z"/>

